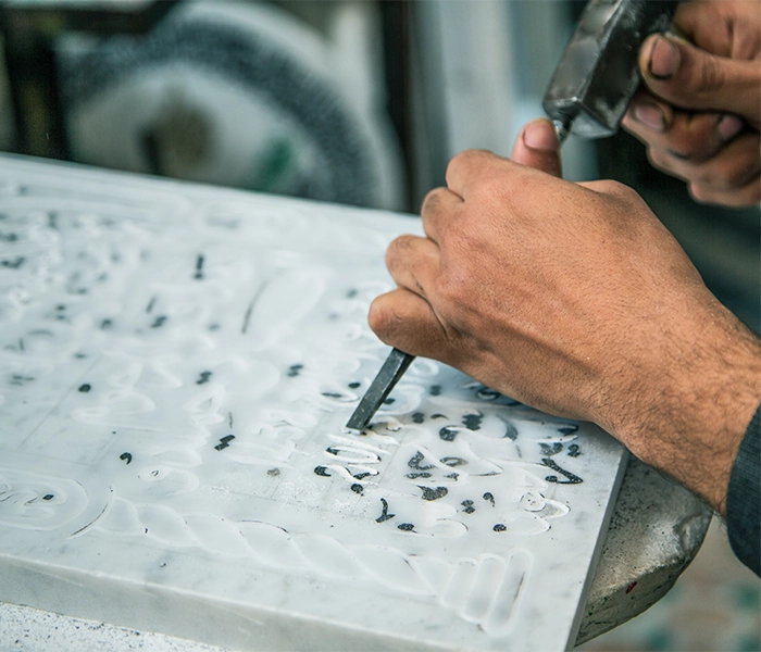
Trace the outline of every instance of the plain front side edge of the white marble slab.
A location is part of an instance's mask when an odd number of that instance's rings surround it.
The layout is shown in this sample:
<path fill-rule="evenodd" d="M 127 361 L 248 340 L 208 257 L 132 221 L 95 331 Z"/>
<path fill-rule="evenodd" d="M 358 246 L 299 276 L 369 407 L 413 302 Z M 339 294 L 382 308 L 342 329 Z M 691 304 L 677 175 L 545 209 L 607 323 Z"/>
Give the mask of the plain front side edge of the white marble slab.
<path fill-rule="evenodd" d="M 78 581 L 77 572 L 9 560 L 8 555 L 0 555 L 0 593 L 4 602 L 53 613 L 64 603 L 66 615 L 71 617 L 229 650 L 445 650 L 402 636 L 353 629 L 346 624 L 336 625 L 232 601 L 210 601 L 201 594 L 165 586 L 102 577 L 102 588 L 93 590 Z"/>

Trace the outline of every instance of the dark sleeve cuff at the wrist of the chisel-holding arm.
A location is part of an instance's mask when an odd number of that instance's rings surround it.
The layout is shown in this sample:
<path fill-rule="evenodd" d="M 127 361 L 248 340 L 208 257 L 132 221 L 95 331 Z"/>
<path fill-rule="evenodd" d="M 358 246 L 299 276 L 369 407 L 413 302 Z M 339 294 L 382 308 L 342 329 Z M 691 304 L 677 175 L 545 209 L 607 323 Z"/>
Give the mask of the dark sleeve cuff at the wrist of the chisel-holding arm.
<path fill-rule="evenodd" d="M 734 553 L 761 576 L 761 405 L 732 467 L 726 492 L 726 529 Z"/>

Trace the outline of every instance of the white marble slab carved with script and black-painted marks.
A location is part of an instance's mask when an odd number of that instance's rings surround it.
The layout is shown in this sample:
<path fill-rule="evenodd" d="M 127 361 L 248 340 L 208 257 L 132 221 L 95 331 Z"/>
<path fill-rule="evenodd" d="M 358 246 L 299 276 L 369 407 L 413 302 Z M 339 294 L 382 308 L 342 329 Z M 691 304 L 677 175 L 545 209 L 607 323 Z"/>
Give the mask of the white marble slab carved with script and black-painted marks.
<path fill-rule="evenodd" d="M 400 233 L 0 158 L 0 601 L 245 649 L 572 644 L 614 441 L 420 359 L 344 428 Z"/>

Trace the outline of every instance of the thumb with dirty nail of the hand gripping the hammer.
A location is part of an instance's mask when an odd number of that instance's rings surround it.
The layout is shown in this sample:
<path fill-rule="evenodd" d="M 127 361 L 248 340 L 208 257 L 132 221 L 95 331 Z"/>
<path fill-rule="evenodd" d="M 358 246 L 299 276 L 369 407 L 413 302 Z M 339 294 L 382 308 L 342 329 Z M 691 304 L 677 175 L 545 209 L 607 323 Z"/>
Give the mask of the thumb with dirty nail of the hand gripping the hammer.
<path fill-rule="evenodd" d="M 761 62 L 716 57 L 687 41 L 654 34 L 639 50 L 646 86 L 682 109 L 731 112 L 759 127 Z"/>

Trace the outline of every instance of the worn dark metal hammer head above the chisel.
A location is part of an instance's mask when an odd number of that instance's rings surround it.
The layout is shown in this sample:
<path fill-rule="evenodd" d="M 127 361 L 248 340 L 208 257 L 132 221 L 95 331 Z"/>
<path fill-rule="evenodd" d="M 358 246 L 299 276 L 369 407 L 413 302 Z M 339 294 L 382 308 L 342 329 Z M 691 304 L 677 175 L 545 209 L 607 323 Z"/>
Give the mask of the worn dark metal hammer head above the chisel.
<path fill-rule="evenodd" d="M 676 4 L 590 0 L 545 93 L 550 118 L 584 138 L 614 134 L 639 86 L 639 47 L 669 29 Z"/>

